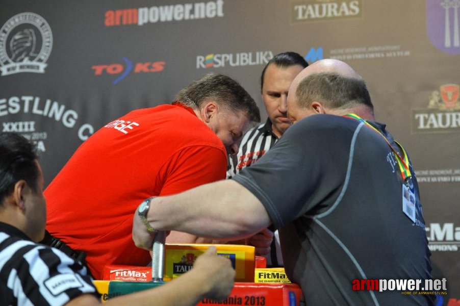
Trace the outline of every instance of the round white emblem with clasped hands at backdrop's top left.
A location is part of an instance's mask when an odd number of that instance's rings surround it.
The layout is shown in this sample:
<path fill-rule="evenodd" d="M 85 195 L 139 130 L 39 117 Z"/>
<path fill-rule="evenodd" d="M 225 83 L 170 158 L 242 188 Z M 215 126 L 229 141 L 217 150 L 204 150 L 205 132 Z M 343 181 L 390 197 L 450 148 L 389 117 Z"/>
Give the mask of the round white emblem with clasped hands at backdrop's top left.
<path fill-rule="evenodd" d="M 52 47 L 53 34 L 43 17 L 31 12 L 11 17 L 0 29 L 1 75 L 44 73 Z"/>

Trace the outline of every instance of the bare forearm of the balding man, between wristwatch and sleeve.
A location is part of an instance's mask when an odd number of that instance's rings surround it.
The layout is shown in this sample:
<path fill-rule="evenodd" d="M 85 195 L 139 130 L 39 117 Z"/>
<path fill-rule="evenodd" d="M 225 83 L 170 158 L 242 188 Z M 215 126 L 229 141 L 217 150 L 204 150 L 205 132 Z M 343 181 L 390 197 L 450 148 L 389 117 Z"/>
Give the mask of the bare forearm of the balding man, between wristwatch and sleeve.
<path fill-rule="evenodd" d="M 147 220 L 157 230 L 234 239 L 250 236 L 270 224 L 259 199 L 232 180 L 155 198 Z"/>

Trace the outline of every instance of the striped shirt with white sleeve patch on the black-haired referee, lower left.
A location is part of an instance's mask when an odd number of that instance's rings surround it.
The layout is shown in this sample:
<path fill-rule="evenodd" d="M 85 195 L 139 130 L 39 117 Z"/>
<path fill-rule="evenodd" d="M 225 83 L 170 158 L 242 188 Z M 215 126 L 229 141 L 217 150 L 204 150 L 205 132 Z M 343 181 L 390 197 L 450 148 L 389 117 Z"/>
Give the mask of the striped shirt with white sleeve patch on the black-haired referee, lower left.
<path fill-rule="evenodd" d="M 0 222 L 0 305 L 63 305 L 84 293 L 98 297 L 85 267 Z"/>

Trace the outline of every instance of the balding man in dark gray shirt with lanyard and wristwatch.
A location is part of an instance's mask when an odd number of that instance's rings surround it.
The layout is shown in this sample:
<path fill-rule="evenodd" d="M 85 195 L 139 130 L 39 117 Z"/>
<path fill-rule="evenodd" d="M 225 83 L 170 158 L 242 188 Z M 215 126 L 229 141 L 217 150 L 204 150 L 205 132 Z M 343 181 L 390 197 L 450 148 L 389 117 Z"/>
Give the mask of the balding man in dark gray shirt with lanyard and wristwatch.
<path fill-rule="evenodd" d="M 276 146 L 232 180 L 152 199 L 149 225 L 245 237 L 273 223 L 306 304 L 432 304 L 430 294 L 353 287 L 431 278 L 414 170 L 385 125 L 372 122 L 360 75 L 338 60 L 315 62 L 292 82 L 288 116 L 294 124 Z M 135 216 L 136 245 L 148 248 L 154 236 Z"/>

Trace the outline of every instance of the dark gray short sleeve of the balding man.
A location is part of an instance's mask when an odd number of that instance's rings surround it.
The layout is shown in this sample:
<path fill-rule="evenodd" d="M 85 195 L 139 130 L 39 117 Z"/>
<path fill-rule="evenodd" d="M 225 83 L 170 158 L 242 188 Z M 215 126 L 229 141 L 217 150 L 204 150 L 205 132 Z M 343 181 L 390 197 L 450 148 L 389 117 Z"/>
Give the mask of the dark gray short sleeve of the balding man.
<path fill-rule="evenodd" d="M 325 137 L 328 130 L 320 122 L 324 117 L 306 119 L 291 126 L 257 163 L 233 177 L 262 202 L 276 228 L 313 214 L 323 199 L 342 187 L 347 156 L 330 148 L 330 143 L 340 141 L 340 133 Z"/>

